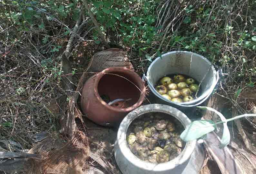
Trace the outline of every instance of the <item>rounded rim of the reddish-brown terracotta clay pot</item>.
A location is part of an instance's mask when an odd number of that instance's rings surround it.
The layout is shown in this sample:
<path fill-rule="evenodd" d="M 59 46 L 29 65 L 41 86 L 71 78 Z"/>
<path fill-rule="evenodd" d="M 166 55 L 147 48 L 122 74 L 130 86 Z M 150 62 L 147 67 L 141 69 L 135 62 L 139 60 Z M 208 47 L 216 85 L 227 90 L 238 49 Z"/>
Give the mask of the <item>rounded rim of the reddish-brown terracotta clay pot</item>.
<path fill-rule="evenodd" d="M 98 92 L 98 83 L 101 80 L 101 78 L 104 75 L 106 75 L 106 73 L 111 73 L 111 72 L 123 73 L 125 71 L 128 72 L 128 74 L 133 74 L 134 78 L 138 82 L 141 81 L 141 84 L 137 84 L 137 85 L 138 85 L 139 88 L 140 88 L 140 86 L 142 86 L 143 89 L 142 90 L 140 89 L 141 90 L 140 98 L 139 98 L 139 100 L 133 106 L 131 106 L 129 108 L 115 108 L 115 107 L 112 107 L 112 106 L 108 105 L 105 101 L 102 100 L 102 98 L 100 97 L 99 92 Z M 132 110 L 138 108 L 142 104 L 142 102 L 143 102 L 143 100 L 145 98 L 146 87 L 145 87 L 141 77 L 137 73 L 132 71 L 131 69 L 126 68 L 126 67 L 113 66 L 113 67 L 109 67 L 109 68 L 104 69 L 102 72 L 99 72 L 99 73 L 95 74 L 95 76 L 98 76 L 98 78 L 96 78 L 95 83 L 94 83 L 94 89 L 96 90 L 96 93 L 95 93 L 96 98 L 97 98 L 97 100 L 100 101 L 100 103 L 105 103 L 106 104 L 105 105 L 106 108 L 114 110 L 114 111 L 118 111 L 118 112 L 120 112 L 120 111 L 129 112 L 129 111 L 132 111 Z"/>

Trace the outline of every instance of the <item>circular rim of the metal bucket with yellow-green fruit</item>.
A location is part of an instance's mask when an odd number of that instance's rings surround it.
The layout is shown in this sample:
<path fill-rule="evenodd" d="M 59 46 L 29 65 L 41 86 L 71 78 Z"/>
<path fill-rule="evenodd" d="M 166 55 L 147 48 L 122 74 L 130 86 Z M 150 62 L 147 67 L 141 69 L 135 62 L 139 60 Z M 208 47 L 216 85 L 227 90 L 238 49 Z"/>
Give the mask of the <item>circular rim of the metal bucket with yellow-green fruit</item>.
<path fill-rule="evenodd" d="M 212 81 L 212 84 L 216 84 L 216 81 L 217 81 L 217 71 L 215 70 L 214 66 L 212 65 L 212 63 L 206 58 L 206 57 L 203 57 L 202 55 L 200 54 L 197 54 L 197 53 L 194 53 L 194 52 L 191 52 L 191 51 L 171 51 L 171 52 L 168 52 L 168 53 L 165 53 L 162 55 L 163 56 L 166 56 L 166 55 L 169 55 L 169 54 L 173 54 L 173 53 L 189 53 L 189 54 L 193 54 L 193 55 L 196 55 L 198 57 L 201 57 L 204 61 L 206 61 L 209 65 L 211 65 L 211 69 L 212 69 L 212 72 L 213 72 L 213 81 Z M 154 93 L 154 95 L 156 95 L 158 98 L 168 102 L 168 103 L 171 103 L 171 104 L 174 104 L 174 105 L 177 105 L 176 102 L 173 102 L 171 100 L 167 100 L 166 98 L 162 97 L 156 90 L 155 88 L 153 87 L 153 84 L 151 82 L 149 82 L 148 80 L 148 77 L 149 77 L 149 72 L 152 68 L 152 66 L 154 65 L 155 62 L 157 62 L 159 59 L 162 59 L 161 57 L 157 57 L 148 67 L 148 70 L 147 70 L 147 75 L 146 75 L 146 78 L 147 78 L 147 82 L 150 83 L 149 85 L 149 88 L 150 90 Z M 211 88 L 208 90 L 208 91 L 212 91 L 213 89 L 215 88 L 215 85 L 211 85 Z M 201 100 L 203 100 L 205 97 L 207 97 L 209 94 L 204 92 L 203 95 L 199 96 L 197 99 L 195 100 L 192 100 L 192 101 L 188 101 L 188 102 L 181 102 L 181 103 L 178 103 L 179 105 L 183 105 L 184 107 L 186 107 L 186 105 L 190 105 L 190 104 L 196 104 L 196 103 L 199 103 Z"/>

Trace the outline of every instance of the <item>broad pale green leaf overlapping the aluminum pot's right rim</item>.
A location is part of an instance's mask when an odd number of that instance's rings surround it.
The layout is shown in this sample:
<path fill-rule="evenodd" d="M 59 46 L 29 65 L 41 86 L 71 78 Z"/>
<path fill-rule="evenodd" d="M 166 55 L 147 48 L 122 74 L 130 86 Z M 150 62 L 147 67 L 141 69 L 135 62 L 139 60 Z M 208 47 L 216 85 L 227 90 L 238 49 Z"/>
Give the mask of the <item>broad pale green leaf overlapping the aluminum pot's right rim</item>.
<path fill-rule="evenodd" d="M 214 129 L 212 120 L 196 120 L 182 132 L 181 139 L 185 142 L 192 141 L 214 131 Z"/>

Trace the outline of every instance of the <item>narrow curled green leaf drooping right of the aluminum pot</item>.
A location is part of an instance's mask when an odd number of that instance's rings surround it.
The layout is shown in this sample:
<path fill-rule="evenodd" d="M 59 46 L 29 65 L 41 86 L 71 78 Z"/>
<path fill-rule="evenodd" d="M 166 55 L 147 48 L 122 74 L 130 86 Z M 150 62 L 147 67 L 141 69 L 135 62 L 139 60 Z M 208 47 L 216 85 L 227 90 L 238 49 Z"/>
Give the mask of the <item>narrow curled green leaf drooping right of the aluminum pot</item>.
<path fill-rule="evenodd" d="M 213 112 L 215 112 L 221 118 L 221 120 L 224 123 L 223 123 L 223 132 L 222 132 L 222 139 L 221 139 L 220 148 L 223 148 L 223 147 L 227 146 L 229 144 L 229 142 L 230 142 L 230 132 L 229 132 L 229 129 L 228 129 L 228 126 L 227 126 L 226 118 L 222 115 L 222 113 L 220 113 L 219 111 L 217 111 L 217 110 L 215 110 L 213 108 L 204 107 L 204 106 L 198 106 L 197 108 L 207 109 L 207 110 L 213 111 Z"/>

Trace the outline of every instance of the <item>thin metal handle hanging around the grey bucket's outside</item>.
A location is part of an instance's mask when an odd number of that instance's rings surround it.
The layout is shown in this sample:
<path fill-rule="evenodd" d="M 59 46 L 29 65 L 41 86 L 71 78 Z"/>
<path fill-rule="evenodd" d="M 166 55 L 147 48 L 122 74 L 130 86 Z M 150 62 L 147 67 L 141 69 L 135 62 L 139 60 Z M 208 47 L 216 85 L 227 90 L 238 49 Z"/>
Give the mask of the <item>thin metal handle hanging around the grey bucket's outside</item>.
<path fill-rule="evenodd" d="M 205 100 L 207 100 L 207 99 L 210 97 L 210 95 L 212 95 L 212 92 L 213 92 L 213 90 L 215 89 L 215 86 L 216 86 L 217 83 L 219 82 L 220 77 L 222 76 L 222 69 L 221 69 L 221 68 L 219 68 L 218 71 L 216 72 L 216 76 L 217 76 L 217 77 L 216 77 L 216 82 L 215 82 L 215 84 L 214 84 L 214 87 L 212 88 L 212 91 L 209 92 L 209 94 L 208 94 L 203 100 L 201 100 L 199 103 L 194 104 L 194 105 L 182 105 L 182 104 L 179 104 L 179 103 L 176 103 L 176 102 L 175 102 L 175 104 L 178 105 L 178 106 L 182 106 L 182 107 L 195 107 L 195 106 L 198 106 L 198 105 L 202 104 Z M 153 85 L 148 81 L 147 76 L 146 76 L 145 74 L 143 74 L 142 80 L 143 80 L 143 82 L 147 82 L 148 85 L 149 85 L 151 88 L 154 89 Z M 167 99 L 166 99 L 166 100 L 167 100 Z"/>

